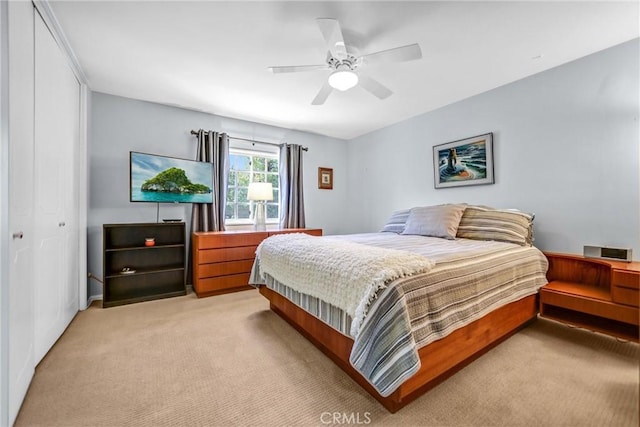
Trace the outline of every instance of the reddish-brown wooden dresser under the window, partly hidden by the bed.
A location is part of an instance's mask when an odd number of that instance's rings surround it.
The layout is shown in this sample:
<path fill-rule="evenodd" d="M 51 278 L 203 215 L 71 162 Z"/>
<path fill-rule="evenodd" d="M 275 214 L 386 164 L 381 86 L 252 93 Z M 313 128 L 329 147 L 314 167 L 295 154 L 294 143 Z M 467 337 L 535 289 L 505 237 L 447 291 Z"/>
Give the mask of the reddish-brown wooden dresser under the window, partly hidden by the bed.
<path fill-rule="evenodd" d="M 193 233 L 193 290 L 196 295 L 207 297 L 251 289 L 248 283 L 256 248 L 267 237 L 283 233 L 322 236 L 322 229 L 287 228 Z"/>

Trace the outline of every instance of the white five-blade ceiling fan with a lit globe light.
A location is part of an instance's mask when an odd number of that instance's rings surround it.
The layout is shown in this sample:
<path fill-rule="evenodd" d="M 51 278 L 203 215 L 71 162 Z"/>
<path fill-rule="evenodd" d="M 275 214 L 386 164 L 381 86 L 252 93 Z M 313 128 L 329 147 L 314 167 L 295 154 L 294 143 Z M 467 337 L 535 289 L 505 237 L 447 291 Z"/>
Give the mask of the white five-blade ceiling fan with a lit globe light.
<path fill-rule="evenodd" d="M 355 56 L 351 52 L 352 49 L 345 44 L 340 23 L 336 19 L 318 18 L 316 22 L 320 27 L 320 32 L 327 45 L 327 59 L 325 64 L 269 67 L 269 70 L 274 74 L 332 70 L 329 78 L 322 88 L 320 88 L 320 92 L 318 92 L 311 102 L 312 105 L 324 104 L 334 89 L 345 91 L 357 84 L 380 99 L 388 98 L 393 92 L 373 77 L 362 73 L 361 67 L 364 68 L 380 63 L 412 61 L 422 58 L 422 51 L 417 43 L 367 55 Z"/>

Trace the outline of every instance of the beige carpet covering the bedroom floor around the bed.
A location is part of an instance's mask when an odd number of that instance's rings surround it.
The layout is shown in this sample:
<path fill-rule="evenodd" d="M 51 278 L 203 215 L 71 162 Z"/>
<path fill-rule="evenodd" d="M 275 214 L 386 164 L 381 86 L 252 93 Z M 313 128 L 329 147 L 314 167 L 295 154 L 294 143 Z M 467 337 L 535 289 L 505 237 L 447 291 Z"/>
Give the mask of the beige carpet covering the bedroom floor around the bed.
<path fill-rule="evenodd" d="M 637 426 L 639 355 L 538 320 L 390 414 L 257 291 L 191 294 L 79 313 L 16 425 Z"/>

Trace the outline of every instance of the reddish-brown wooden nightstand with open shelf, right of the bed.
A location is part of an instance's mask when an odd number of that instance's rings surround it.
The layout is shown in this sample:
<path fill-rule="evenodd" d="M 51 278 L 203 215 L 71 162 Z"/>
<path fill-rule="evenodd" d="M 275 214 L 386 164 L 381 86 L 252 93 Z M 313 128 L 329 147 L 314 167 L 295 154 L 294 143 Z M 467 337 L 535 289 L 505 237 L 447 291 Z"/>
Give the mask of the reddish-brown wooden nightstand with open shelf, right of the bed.
<path fill-rule="evenodd" d="M 638 342 L 640 262 L 545 255 L 541 316 Z"/>

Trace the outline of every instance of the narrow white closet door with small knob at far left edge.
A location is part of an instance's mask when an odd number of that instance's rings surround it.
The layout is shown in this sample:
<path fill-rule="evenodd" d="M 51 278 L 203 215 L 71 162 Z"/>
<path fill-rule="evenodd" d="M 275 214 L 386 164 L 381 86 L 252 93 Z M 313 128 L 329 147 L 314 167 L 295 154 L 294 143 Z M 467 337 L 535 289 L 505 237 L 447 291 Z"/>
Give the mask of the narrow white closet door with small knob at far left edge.
<path fill-rule="evenodd" d="M 33 377 L 33 6 L 9 2 L 9 423 Z"/>

